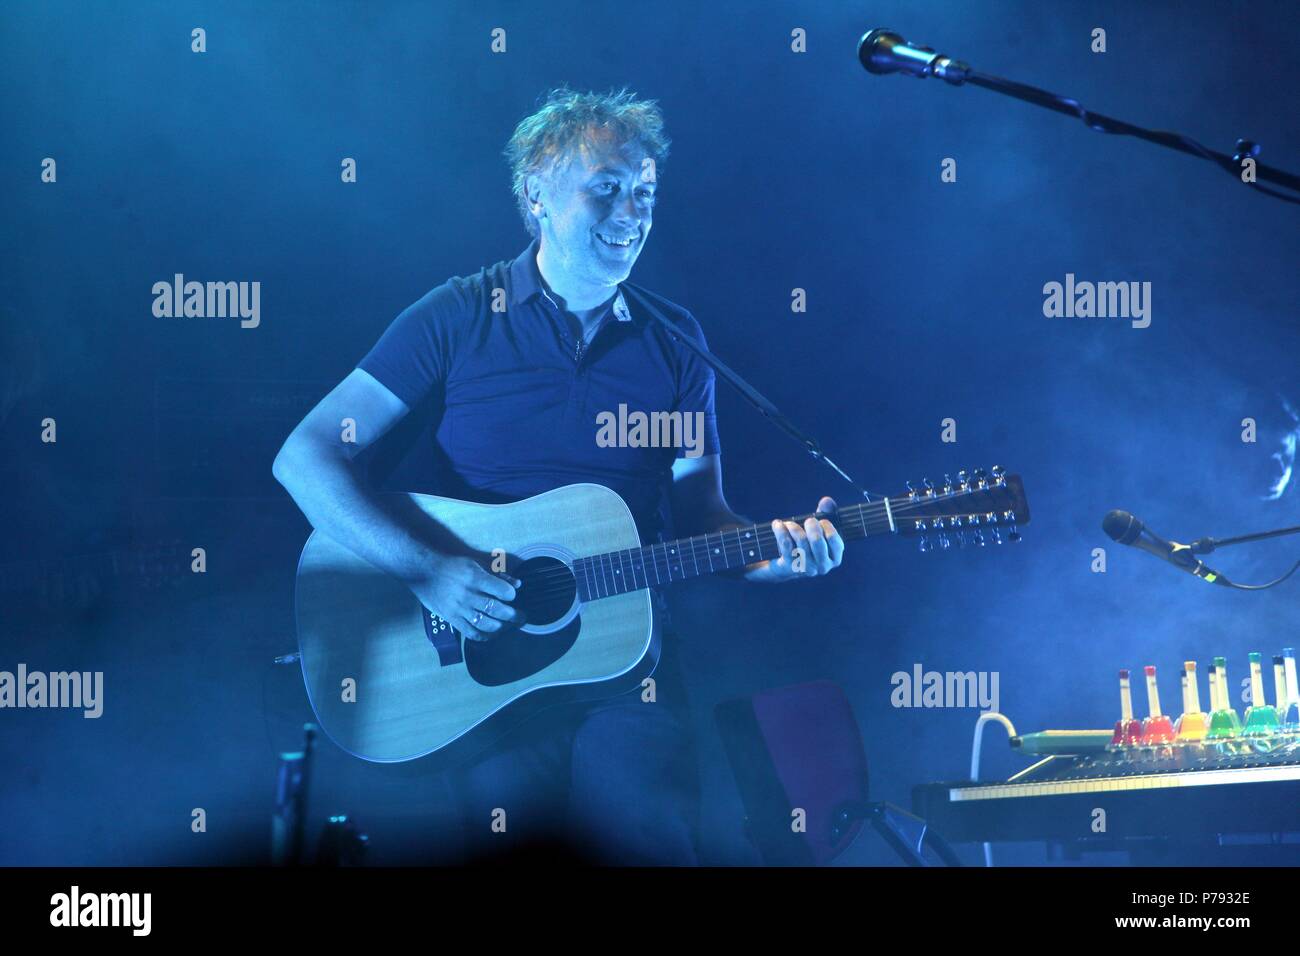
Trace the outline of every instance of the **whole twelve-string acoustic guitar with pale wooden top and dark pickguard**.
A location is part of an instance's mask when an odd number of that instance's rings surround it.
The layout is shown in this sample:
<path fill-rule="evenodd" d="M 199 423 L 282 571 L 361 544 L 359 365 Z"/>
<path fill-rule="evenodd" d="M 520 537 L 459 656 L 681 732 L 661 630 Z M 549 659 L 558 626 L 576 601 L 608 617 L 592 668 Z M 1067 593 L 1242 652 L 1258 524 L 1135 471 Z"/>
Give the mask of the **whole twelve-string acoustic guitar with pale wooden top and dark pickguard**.
<path fill-rule="evenodd" d="M 523 581 L 526 623 L 463 640 L 402 581 L 313 532 L 295 594 L 303 679 L 321 728 L 369 761 L 455 761 L 536 708 L 629 691 L 659 659 L 649 588 L 780 555 L 767 524 L 644 546 L 624 501 L 595 484 L 510 505 L 407 497 L 484 567 Z M 846 541 L 932 550 L 1015 541 L 1028 520 L 1019 477 L 994 467 L 841 506 L 835 525 Z"/>

